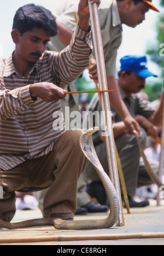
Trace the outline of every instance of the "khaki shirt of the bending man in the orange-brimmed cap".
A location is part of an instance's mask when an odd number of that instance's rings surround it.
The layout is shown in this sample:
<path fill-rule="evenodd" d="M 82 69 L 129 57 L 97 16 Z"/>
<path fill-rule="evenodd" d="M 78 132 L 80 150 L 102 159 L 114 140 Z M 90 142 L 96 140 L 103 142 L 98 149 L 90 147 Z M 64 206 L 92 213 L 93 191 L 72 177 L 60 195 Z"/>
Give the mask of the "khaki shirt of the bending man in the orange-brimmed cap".
<path fill-rule="evenodd" d="M 57 21 L 66 25 L 72 31 L 75 30 L 73 11 L 78 10 L 79 0 L 61 0 L 61 4 L 52 10 Z M 107 75 L 115 76 L 117 50 L 122 42 L 122 25 L 116 0 L 103 0 L 98 9 L 101 25 L 104 59 Z M 93 39 L 92 39 L 93 42 Z M 63 45 L 58 38 L 52 38 L 50 47 L 57 46 L 62 49 Z M 51 49 L 51 48 L 50 48 Z"/>

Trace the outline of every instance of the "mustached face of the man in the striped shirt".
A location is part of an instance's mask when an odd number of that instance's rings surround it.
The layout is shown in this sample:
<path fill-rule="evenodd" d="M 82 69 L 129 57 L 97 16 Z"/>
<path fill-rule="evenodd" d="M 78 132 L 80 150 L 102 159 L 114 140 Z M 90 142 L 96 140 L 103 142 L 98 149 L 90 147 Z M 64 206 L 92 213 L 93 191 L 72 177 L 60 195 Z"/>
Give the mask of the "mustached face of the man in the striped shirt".
<path fill-rule="evenodd" d="M 50 34 L 43 28 L 33 28 L 22 36 L 18 33 L 16 50 L 22 59 L 35 63 L 42 56 L 50 41 Z"/>

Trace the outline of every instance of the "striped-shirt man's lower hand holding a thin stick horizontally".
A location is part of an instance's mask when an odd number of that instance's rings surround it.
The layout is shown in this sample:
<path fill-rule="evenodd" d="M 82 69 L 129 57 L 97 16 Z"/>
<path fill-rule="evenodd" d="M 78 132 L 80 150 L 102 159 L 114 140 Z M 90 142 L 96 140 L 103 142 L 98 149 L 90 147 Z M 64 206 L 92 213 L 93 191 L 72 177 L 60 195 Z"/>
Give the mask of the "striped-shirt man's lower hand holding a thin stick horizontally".
<path fill-rule="evenodd" d="M 51 83 L 36 83 L 30 86 L 30 94 L 32 98 L 42 98 L 45 102 L 61 100 L 66 96 L 63 89 Z"/>

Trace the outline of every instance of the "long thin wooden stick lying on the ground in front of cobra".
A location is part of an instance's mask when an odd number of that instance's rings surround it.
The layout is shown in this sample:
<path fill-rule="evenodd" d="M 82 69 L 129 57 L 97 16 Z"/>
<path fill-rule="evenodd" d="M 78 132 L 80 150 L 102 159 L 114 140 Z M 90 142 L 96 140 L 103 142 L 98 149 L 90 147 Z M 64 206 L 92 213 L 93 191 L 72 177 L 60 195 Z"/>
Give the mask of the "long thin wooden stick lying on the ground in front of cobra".
<path fill-rule="evenodd" d="M 164 232 L 142 232 L 129 234 L 107 235 L 56 235 L 56 236 L 31 236 L 31 237 L 0 237 L 3 243 L 39 243 L 39 242 L 62 242 L 62 241 L 90 241 L 90 240 L 123 240 L 123 239 L 152 239 L 164 238 Z"/>

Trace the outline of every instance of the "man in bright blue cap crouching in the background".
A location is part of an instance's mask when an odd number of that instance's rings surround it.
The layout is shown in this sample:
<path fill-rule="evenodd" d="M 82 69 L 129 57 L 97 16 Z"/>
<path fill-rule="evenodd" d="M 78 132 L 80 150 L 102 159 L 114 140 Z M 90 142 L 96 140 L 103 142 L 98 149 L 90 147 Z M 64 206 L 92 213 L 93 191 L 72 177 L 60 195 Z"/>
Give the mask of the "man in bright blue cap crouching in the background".
<path fill-rule="evenodd" d="M 156 77 L 155 74 L 148 70 L 147 58 L 145 56 L 125 56 L 121 60 L 121 71 L 119 72 L 119 88 L 122 99 L 126 104 L 128 110 L 130 111 L 132 117 L 134 117 L 140 124 L 140 140 L 145 147 L 145 141 L 147 135 L 157 135 L 154 126 L 161 127 L 161 120 L 163 115 L 163 105 L 164 96 L 162 94 L 162 99 L 160 106 L 154 110 L 149 106 L 149 102 L 143 100 L 143 98 L 138 94 L 145 87 L 145 79 L 148 77 Z M 95 110 L 101 111 L 101 106 L 97 95 L 93 97 L 90 103 L 89 110 L 95 112 Z M 143 185 L 150 185 L 153 183 L 151 178 L 148 176 L 145 170 L 143 162 L 140 161 L 140 152 L 135 136 L 130 136 L 125 133 L 125 124 L 122 121 L 120 115 L 111 106 L 112 119 L 113 119 L 113 131 L 114 138 L 116 142 L 116 147 L 118 148 L 122 169 L 124 172 L 128 198 L 131 207 L 144 207 L 149 205 L 149 202 L 136 202 L 133 200 L 133 195 L 136 194 L 136 188 L 142 187 Z M 103 142 L 101 137 L 101 131 L 99 134 L 95 134 L 93 137 L 95 142 L 95 148 L 99 160 L 108 173 L 108 161 L 106 155 L 106 143 Z M 150 162 L 153 170 L 157 172 L 159 164 L 156 162 Z M 87 187 L 87 192 L 92 196 L 96 197 L 100 203 L 104 196 L 102 190 L 99 190 L 99 178 L 96 171 L 91 166 L 87 164 L 86 167 L 87 178 L 93 181 Z M 94 191 L 96 193 L 94 194 Z"/>

